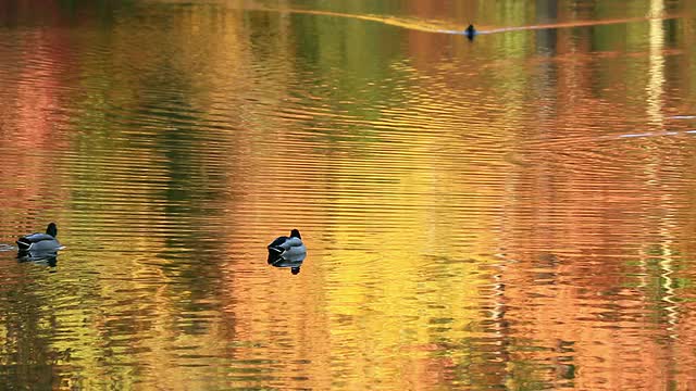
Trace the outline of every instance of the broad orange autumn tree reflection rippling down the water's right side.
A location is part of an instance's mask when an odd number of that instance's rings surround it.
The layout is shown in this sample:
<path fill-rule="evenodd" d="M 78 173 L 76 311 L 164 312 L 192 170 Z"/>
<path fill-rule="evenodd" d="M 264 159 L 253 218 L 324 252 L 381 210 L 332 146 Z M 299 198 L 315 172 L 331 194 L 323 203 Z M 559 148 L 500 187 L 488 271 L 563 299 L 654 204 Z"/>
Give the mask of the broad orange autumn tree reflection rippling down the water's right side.
<path fill-rule="evenodd" d="M 644 7 L 645 3 L 633 3 L 629 14 L 639 15 L 645 12 Z M 613 11 L 598 7 L 584 10 L 585 13 L 576 17 L 623 16 L 611 14 Z M 558 12 L 556 16 L 560 20 L 570 16 L 563 4 L 558 7 Z M 506 14 L 511 15 L 515 14 Z M 523 13 L 517 15 L 525 20 Z M 672 23 L 667 22 L 667 28 Z M 668 331 L 674 329 L 674 321 L 680 321 L 676 315 L 681 313 L 680 305 L 672 304 L 673 290 L 679 285 L 664 276 L 678 275 L 686 257 L 676 249 L 666 248 L 660 250 L 657 261 L 650 261 L 651 255 L 643 249 L 626 250 L 631 243 L 641 241 L 637 238 L 646 242 L 684 240 L 679 227 L 683 227 L 686 219 L 674 220 L 674 216 L 682 213 L 669 205 L 689 204 L 684 198 L 692 193 L 688 185 L 685 186 L 691 182 L 689 174 L 681 168 L 689 166 L 689 150 L 670 148 L 668 144 L 672 141 L 664 138 L 627 146 L 594 141 L 608 134 L 662 130 L 646 124 L 626 126 L 626 122 L 612 115 L 619 110 L 626 116 L 645 117 L 645 102 L 649 99 L 646 86 L 652 88 L 645 73 L 649 66 L 645 52 L 646 28 L 647 24 L 643 23 L 558 30 L 554 40 L 546 41 L 546 48 L 539 48 L 542 53 L 549 49 L 558 52 L 548 60 L 514 60 L 515 53 L 536 42 L 534 36 L 518 35 L 526 41 L 510 37 L 512 56 L 499 64 L 468 63 L 474 53 L 501 48 L 470 46 L 464 41 L 453 46 L 453 52 L 462 58 L 459 66 L 444 62 L 442 51 L 434 49 L 442 48 L 448 39 L 412 34 L 414 72 L 442 77 L 443 70 L 451 68 L 461 76 L 442 78 L 453 90 L 443 89 L 439 91 L 443 97 L 465 101 L 461 96 L 452 98 L 448 93 L 463 94 L 462 91 L 480 89 L 481 83 L 487 85 L 487 94 L 471 94 L 475 104 L 462 105 L 460 114 L 460 117 L 482 117 L 487 122 L 470 124 L 467 131 L 483 137 L 492 128 L 505 130 L 524 155 L 515 157 L 521 165 L 509 175 L 511 192 L 506 199 L 518 201 L 506 201 L 511 205 L 510 210 L 506 207 L 502 231 L 506 247 L 517 249 L 509 254 L 510 258 L 520 262 L 506 268 L 504 275 L 508 287 L 505 303 L 509 306 L 505 323 L 510 327 L 501 328 L 505 332 L 501 344 L 506 348 L 499 353 L 509 357 L 510 365 L 501 376 L 511 378 L 510 386 L 530 387 L 535 381 L 559 384 L 570 379 L 581 388 L 593 389 L 600 388 L 607 379 L 609 388 L 645 384 L 641 382 L 645 374 L 638 368 L 650 368 L 647 377 L 660 388 L 669 381 L 663 374 L 670 373 L 675 362 L 692 360 L 674 353 L 673 349 L 669 349 L 668 354 L 660 350 L 664 341 L 676 344 L 681 339 L 674 339 L 673 331 Z M 679 37 L 668 34 L 666 39 L 664 45 L 669 47 L 676 45 Z M 457 52 L 457 48 L 461 48 L 461 52 Z M 589 54 L 580 54 L 587 50 Z M 661 50 L 669 53 L 668 48 Z M 636 62 L 643 64 L 636 66 Z M 667 56 L 667 63 L 673 70 L 666 75 L 679 74 L 679 60 Z M 673 83 L 683 81 L 678 77 L 666 78 L 661 88 L 672 90 L 670 84 Z M 627 100 L 625 106 L 618 106 L 616 102 L 622 101 L 619 94 L 634 98 Z M 664 99 L 673 97 L 664 96 Z M 492 100 L 498 104 L 490 104 Z M 514 115 L 529 115 L 530 101 L 538 105 L 538 116 L 527 119 Z M 500 102 L 510 115 L 486 112 Z M 680 128 L 680 124 L 674 126 Z M 626 148 L 635 159 L 621 160 L 625 165 L 616 166 L 612 151 Z M 602 156 L 606 161 L 600 160 Z M 655 172 L 634 164 L 645 159 L 655 162 Z M 646 193 L 646 180 L 657 180 L 660 185 Z M 625 191 L 616 192 L 617 188 Z M 667 205 L 666 200 L 669 200 Z M 655 230 L 645 231 L 645 227 Z M 591 270 L 586 269 L 588 263 L 593 265 Z M 630 277 L 632 274 L 643 277 L 636 281 Z M 646 307 L 654 308 L 649 312 L 654 311 L 655 318 L 641 317 L 645 314 L 641 308 Z M 577 320 L 570 320 L 572 318 Z M 654 326 L 644 326 L 646 323 Z M 613 327 L 625 332 L 617 332 Z M 630 331 L 642 327 L 650 331 Z M 652 327 L 663 328 L 664 332 L 656 333 Z M 526 339 L 526 336 L 534 338 Z M 559 342 L 570 345 L 571 350 L 557 352 Z M 535 352 L 536 349 L 540 352 Z M 645 354 L 634 363 L 623 362 L 621 357 L 630 356 L 633 350 L 645 350 Z M 581 371 L 575 373 L 575 368 Z"/>

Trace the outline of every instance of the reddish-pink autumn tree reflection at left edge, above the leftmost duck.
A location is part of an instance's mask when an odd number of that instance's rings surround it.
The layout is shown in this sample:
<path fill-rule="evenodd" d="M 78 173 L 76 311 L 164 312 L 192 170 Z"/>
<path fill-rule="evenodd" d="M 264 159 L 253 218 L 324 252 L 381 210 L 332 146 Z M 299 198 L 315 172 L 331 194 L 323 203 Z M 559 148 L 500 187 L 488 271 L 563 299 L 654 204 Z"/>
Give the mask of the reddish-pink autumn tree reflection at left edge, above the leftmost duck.
<path fill-rule="evenodd" d="M 11 18 L 10 14 L 9 9 L 0 9 L 0 23 Z M 66 34 L 42 36 L 38 31 L 22 35 L 11 45 L 16 50 L 11 50 L 3 62 L 18 66 L 8 67 L 7 75 L 0 77 L 0 135 L 5 144 L 36 153 L 0 156 L 4 173 L 0 176 L 0 205 L 8 211 L 4 222 L 11 223 L 5 228 L 36 229 L 34 222 L 26 222 L 26 211 L 42 210 L 45 216 L 50 216 L 42 218 L 54 219 L 54 211 L 69 198 L 64 178 L 48 177 L 46 173 L 54 169 L 54 156 L 48 151 L 69 148 L 61 131 L 64 118 L 57 122 L 52 116 L 70 100 L 62 87 L 69 77 L 65 70 L 76 63 L 75 47 Z"/>

